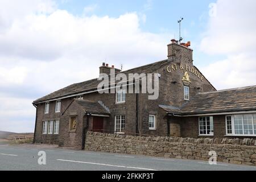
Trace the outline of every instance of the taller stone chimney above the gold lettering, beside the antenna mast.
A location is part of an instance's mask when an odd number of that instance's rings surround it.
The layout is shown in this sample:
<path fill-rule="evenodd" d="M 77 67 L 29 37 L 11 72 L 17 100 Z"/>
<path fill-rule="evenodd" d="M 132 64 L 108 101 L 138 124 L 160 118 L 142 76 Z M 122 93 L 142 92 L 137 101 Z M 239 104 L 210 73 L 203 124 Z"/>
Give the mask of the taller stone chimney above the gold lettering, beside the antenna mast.
<path fill-rule="evenodd" d="M 177 61 L 183 63 L 193 64 L 193 49 L 189 48 L 191 42 L 181 43 L 175 39 L 171 40 L 171 44 L 168 44 L 168 59 L 176 57 Z"/>

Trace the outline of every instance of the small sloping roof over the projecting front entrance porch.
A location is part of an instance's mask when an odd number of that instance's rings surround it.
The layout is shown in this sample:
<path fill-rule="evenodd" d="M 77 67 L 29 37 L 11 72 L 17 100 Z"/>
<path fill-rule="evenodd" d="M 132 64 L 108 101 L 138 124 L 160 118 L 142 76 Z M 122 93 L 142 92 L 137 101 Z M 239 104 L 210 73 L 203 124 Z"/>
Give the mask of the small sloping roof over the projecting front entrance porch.
<path fill-rule="evenodd" d="M 110 114 L 108 108 L 106 108 L 101 102 L 88 101 L 88 100 L 74 100 L 79 104 L 86 113 L 92 114 Z"/>

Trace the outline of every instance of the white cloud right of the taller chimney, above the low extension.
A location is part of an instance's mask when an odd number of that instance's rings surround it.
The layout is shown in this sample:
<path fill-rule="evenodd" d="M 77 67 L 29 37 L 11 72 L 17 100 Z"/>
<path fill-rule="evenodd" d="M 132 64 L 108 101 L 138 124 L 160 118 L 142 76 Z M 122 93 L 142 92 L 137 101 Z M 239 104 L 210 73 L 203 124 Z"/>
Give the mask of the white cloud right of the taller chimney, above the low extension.
<path fill-rule="evenodd" d="M 256 85 L 256 12 L 253 0 L 218 0 L 216 16 L 209 19 L 201 51 L 225 55 L 203 68 L 218 89 Z"/>

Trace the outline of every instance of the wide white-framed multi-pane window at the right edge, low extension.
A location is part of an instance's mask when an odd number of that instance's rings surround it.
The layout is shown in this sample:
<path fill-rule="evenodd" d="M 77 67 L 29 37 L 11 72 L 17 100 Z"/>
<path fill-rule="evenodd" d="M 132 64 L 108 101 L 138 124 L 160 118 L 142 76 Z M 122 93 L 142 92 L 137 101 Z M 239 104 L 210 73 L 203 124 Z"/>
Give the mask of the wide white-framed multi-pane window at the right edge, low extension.
<path fill-rule="evenodd" d="M 226 135 L 256 135 L 256 114 L 227 115 Z"/>

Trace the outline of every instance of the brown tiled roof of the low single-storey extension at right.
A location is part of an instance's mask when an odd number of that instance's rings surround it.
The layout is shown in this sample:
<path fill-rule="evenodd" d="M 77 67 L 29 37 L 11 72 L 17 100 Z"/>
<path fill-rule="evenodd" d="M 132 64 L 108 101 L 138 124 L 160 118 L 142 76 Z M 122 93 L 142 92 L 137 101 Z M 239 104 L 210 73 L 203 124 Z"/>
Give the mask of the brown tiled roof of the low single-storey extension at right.
<path fill-rule="evenodd" d="M 207 114 L 256 110 L 256 85 L 197 94 L 178 109 L 159 106 L 167 113 Z"/>

